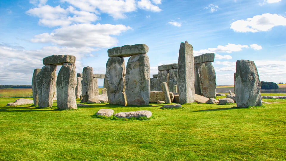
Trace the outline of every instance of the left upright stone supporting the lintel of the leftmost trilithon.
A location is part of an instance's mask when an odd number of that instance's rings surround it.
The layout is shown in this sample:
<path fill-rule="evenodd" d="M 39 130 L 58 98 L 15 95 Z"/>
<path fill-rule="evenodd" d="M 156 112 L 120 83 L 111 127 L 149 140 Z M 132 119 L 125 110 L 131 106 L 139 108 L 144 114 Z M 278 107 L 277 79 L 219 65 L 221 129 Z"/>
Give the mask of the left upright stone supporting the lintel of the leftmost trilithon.
<path fill-rule="evenodd" d="M 36 86 L 39 96 L 40 108 L 52 107 L 54 85 L 56 81 L 56 65 L 45 65 L 36 76 Z"/>

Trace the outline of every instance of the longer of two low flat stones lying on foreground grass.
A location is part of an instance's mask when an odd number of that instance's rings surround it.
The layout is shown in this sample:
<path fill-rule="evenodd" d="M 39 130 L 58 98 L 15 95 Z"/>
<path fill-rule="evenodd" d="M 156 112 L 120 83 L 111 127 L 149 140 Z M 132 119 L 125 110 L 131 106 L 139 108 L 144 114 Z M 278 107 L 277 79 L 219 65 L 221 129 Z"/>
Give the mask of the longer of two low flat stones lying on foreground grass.
<path fill-rule="evenodd" d="M 130 112 L 119 112 L 119 113 L 116 113 L 114 115 L 115 117 L 118 117 L 118 118 L 131 118 L 131 117 L 134 117 L 134 118 L 139 118 L 139 117 L 147 117 L 147 118 L 150 118 L 152 116 L 152 112 L 151 111 L 147 111 L 147 110 L 141 110 L 141 111 L 130 111 Z"/>

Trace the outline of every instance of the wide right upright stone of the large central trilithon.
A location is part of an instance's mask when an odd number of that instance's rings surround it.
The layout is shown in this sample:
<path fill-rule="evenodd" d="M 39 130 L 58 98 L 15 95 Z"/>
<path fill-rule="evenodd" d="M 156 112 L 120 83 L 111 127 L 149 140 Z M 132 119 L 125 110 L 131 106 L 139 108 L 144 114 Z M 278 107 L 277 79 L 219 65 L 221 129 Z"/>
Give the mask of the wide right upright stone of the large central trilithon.
<path fill-rule="evenodd" d="M 128 105 L 149 105 L 150 64 L 147 54 L 133 55 L 126 66 L 126 98 Z"/>

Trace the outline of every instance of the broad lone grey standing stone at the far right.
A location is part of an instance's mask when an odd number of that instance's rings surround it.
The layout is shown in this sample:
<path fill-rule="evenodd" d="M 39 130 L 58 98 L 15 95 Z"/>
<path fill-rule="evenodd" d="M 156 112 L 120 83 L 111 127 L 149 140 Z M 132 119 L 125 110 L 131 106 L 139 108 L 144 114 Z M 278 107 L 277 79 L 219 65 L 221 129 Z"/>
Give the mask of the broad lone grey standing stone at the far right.
<path fill-rule="evenodd" d="M 237 107 L 262 106 L 261 82 L 254 61 L 236 61 L 234 82 Z"/>

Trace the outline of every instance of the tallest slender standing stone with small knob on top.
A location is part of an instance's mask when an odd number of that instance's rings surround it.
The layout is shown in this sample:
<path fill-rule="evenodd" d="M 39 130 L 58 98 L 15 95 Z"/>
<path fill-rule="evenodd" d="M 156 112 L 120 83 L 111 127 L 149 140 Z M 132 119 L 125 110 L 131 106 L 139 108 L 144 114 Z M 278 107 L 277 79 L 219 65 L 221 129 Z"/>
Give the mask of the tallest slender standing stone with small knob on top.
<path fill-rule="evenodd" d="M 180 104 L 195 102 L 195 69 L 193 47 L 181 43 L 178 60 L 178 92 Z"/>

